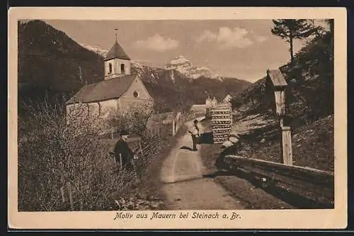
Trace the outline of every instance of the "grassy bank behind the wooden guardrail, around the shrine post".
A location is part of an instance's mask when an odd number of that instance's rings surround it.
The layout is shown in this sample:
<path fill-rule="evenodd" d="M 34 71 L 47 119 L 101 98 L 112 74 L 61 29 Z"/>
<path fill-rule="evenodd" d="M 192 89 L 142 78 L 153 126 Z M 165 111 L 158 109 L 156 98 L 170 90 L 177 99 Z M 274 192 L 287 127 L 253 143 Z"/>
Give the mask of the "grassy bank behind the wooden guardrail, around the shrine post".
<path fill-rule="evenodd" d="M 248 124 L 247 124 L 248 125 Z M 243 122 L 236 122 L 234 131 L 243 130 Z M 251 132 L 244 135 L 245 157 L 281 162 L 280 134 L 273 123 L 265 127 L 249 126 Z M 333 172 L 334 137 L 333 116 L 292 129 L 293 164 Z M 261 140 L 263 139 L 263 142 Z"/>

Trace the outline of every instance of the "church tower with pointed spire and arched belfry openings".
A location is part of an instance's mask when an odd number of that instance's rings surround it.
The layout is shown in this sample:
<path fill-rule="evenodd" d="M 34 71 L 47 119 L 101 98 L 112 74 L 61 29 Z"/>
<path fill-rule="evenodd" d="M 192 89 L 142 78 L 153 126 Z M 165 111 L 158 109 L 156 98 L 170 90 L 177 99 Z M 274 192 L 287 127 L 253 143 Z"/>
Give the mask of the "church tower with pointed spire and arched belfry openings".
<path fill-rule="evenodd" d="M 117 33 L 115 33 L 115 43 L 105 56 L 104 63 L 105 80 L 130 74 L 130 57 L 119 45 Z"/>

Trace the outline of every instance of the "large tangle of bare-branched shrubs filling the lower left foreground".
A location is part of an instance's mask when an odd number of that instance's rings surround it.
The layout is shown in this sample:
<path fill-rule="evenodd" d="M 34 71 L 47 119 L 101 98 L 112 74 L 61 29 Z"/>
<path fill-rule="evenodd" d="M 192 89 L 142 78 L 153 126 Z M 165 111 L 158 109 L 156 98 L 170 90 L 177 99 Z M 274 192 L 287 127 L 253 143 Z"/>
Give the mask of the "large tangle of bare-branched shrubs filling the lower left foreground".
<path fill-rule="evenodd" d="M 134 176 L 113 174 L 101 130 L 92 125 L 97 118 L 65 117 L 63 103 L 47 101 L 25 110 L 18 118 L 18 210 L 68 210 L 60 191 L 68 182 L 75 210 L 112 209 Z"/>

